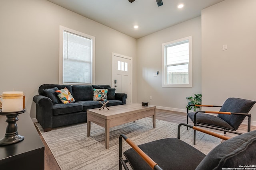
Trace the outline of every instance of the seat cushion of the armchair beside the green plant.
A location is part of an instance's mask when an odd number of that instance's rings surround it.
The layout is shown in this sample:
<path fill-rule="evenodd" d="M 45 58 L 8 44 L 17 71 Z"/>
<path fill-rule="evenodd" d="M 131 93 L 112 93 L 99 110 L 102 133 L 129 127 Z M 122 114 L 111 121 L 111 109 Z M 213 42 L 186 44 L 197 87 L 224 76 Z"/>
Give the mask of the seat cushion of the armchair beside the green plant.
<path fill-rule="evenodd" d="M 194 122 L 194 115 L 195 112 L 190 112 L 188 113 L 188 117 Z M 235 131 L 235 129 L 228 124 L 226 121 L 221 119 L 220 117 L 210 115 L 210 114 L 205 114 L 205 113 L 196 113 L 196 123 L 201 124 L 201 125 L 210 125 L 213 127 L 220 127 L 220 128 L 225 128 L 231 131 Z"/>

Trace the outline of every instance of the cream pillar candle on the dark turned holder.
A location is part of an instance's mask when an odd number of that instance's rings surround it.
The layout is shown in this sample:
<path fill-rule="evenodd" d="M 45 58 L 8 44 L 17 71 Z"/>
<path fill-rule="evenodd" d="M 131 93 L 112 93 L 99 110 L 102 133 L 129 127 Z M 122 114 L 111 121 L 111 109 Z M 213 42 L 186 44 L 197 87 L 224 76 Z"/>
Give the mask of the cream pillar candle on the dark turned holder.
<path fill-rule="evenodd" d="M 23 109 L 23 96 L 23 92 L 3 92 L 2 111 L 21 111 Z"/>

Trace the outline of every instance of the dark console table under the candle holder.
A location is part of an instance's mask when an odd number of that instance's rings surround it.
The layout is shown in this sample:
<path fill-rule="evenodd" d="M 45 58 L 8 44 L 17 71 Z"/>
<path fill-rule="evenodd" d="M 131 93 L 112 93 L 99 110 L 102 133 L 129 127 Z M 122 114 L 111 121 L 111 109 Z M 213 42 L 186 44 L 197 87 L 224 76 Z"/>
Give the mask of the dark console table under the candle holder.
<path fill-rule="evenodd" d="M 42 143 L 30 115 L 18 115 L 18 134 L 24 140 L 11 145 L 0 146 L 1 170 L 44 170 L 44 144 Z M 6 132 L 6 117 L 0 115 L 0 139 Z"/>

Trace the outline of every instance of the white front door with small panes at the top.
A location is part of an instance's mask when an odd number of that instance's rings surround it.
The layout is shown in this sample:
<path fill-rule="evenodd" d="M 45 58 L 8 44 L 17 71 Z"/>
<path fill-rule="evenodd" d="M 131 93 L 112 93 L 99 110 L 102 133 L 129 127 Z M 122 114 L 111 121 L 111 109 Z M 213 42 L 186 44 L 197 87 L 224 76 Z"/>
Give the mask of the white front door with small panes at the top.
<path fill-rule="evenodd" d="M 112 88 L 126 93 L 126 104 L 132 103 L 132 58 L 112 53 Z"/>

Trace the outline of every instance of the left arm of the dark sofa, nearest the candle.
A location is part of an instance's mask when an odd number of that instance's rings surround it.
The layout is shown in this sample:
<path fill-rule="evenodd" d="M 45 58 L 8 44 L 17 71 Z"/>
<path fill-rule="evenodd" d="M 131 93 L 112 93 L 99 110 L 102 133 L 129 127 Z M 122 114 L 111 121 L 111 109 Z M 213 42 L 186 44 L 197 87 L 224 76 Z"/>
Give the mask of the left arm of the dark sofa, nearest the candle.
<path fill-rule="evenodd" d="M 44 132 L 52 130 L 52 100 L 46 96 L 36 95 L 33 98 L 36 103 L 36 119 L 44 129 Z"/>

